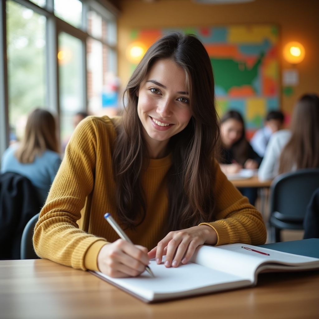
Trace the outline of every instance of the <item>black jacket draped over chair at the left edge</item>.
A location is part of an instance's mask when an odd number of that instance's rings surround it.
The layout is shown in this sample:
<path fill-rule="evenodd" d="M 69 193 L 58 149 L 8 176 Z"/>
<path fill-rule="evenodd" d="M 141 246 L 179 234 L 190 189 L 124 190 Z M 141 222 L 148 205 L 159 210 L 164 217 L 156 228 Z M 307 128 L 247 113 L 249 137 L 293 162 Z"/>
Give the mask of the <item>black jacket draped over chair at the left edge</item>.
<path fill-rule="evenodd" d="M 23 229 L 41 204 L 28 178 L 12 172 L 0 175 L 0 259 L 20 259 Z"/>

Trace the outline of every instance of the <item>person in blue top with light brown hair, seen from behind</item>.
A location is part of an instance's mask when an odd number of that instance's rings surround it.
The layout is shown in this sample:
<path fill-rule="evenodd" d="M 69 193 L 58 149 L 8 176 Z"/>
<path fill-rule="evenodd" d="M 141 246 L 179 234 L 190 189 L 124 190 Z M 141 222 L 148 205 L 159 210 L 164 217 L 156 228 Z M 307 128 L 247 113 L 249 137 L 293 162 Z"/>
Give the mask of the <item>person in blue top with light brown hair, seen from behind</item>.
<path fill-rule="evenodd" d="M 1 173 L 27 177 L 44 204 L 60 163 L 55 119 L 47 110 L 37 108 L 28 116 L 22 141 L 5 150 Z"/>

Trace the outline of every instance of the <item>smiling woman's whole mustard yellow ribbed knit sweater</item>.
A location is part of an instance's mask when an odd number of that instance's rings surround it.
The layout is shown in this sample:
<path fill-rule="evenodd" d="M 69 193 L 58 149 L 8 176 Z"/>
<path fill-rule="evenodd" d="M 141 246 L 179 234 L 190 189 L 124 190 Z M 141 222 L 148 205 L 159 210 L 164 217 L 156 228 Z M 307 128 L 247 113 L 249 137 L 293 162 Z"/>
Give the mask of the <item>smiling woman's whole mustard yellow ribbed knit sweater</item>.
<path fill-rule="evenodd" d="M 111 156 L 115 128 L 107 116 L 90 116 L 75 130 L 61 167 L 35 226 L 33 244 L 42 258 L 78 269 L 98 270 L 97 256 L 103 245 L 119 237 L 104 219 L 106 212 L 119 222 L 115 210 L 115 182 Z M 146 217 L 129 238 L 152 249 L 167 220 L 165 178 L 171 156 L 151 159 L 142 176 Z M 229 182 L 214 163 L 217 221 L 207 224 L 218 236 L 217 245 L 242 242 L 263 244 L 266 230 L 261 214 Z"/>

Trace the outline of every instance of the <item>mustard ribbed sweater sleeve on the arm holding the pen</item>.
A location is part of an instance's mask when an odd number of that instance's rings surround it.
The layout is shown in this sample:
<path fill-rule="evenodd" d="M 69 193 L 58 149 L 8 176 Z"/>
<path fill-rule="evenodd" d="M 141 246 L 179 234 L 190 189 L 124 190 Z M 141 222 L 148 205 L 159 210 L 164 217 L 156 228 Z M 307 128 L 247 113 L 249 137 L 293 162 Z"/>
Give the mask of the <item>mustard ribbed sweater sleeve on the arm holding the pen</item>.
<path fill-rule="evenodd" d="M 71 137 L 33 236 L 38 256 L 78 269 L 85 269 L 84 256 L 91 245 L 99 242 L 100 249 L 106 243 L 77 224 L 94 184 L 97 121 L 85 119 Z M 96 258 L 93 263 L 96 265 Z"/>

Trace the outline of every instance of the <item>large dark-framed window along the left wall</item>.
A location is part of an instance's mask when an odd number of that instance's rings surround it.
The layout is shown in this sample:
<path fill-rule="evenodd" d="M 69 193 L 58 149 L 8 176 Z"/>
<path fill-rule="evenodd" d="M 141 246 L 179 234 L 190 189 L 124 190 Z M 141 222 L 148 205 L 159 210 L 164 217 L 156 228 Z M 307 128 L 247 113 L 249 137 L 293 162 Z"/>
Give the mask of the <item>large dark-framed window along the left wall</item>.
<path fill-rule="evenodd" d="M 61 141 L 72 133 L 76 112 L 116 113 L 117 11 L 104 4 L 2 0 L 0 155 L 9 140 L 22 138 L 26 117 L 36 107 L 56 115 Z"/>

